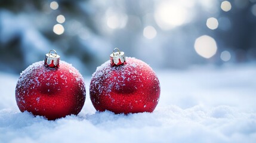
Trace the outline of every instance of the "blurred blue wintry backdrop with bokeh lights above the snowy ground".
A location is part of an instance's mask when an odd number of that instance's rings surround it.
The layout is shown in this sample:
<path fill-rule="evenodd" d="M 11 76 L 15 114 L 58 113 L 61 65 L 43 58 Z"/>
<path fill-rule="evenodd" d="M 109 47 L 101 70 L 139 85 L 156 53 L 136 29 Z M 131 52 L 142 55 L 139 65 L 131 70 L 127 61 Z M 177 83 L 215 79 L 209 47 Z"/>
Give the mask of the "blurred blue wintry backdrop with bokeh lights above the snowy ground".
<path fill-rule="evenodd" d="M 256 0 L 0 1 L 0 70 L 20 73 L 55 49 L 91 74 L 118 47 L 153 68 L 256 58 Z"/>

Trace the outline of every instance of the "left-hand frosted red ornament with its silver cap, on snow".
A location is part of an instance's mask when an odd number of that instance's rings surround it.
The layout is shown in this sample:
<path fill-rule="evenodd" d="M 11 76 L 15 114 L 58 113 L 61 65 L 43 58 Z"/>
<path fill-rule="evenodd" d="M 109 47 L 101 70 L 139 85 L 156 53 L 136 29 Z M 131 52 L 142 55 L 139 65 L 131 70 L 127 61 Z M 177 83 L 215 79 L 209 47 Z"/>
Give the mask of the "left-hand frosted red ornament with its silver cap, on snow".
<path fill-rule="evenodd" d="M 33 63 L 21 73 L 16 101 L 22 112 L 55 120 L 82 110 L 85 83 L 75 67 L 50 52 L 45 55 L 45 61 Z"/>

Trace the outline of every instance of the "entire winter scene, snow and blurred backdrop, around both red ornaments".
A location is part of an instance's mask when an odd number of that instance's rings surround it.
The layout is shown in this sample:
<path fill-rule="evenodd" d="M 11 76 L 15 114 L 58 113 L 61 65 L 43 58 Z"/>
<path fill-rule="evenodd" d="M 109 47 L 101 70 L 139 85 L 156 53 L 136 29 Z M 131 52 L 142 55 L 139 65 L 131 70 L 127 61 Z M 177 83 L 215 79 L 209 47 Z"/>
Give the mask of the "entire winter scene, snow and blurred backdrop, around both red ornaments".
<path fill-rule="evenodd" d="M 256 1 L 0 1 L 0 142 L 255 142 Z M 153 113 L 95 111 L 91 74 L 118 47 L 156 71 Z M 18 110 L 19 73 L 55 49 L 85 78 L 78 116 Z"/>

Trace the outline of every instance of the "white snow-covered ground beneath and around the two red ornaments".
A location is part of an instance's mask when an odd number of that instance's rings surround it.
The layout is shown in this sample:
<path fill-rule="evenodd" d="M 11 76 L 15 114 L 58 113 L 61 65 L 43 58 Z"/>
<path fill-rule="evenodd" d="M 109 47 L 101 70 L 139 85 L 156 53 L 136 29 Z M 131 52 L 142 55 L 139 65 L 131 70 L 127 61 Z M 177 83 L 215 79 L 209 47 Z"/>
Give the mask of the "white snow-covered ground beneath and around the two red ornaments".
<path fill-rule="evenodd" d="M 256 67 L 156 71 L 153 113 L 95 112 L 88 95 L 78 116 L 48 121 L 20 113 L 18 77 L 0 73 L 0 142 L 255 142 Z"/>

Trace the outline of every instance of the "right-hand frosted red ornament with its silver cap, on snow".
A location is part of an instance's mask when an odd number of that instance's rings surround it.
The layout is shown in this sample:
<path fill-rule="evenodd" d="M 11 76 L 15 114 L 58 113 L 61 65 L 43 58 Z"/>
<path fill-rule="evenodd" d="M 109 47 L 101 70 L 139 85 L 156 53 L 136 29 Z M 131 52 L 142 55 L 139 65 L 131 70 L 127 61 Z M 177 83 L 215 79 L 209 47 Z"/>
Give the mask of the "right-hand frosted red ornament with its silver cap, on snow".
<path fill-rule="evenodd" d="M 113 52 L 92 74 L 90 97 L 97 111 L 152 112 L 159 96 L 159 80 L 152 68 L 136 58 L 125 58 L 122 52 Z"/>

